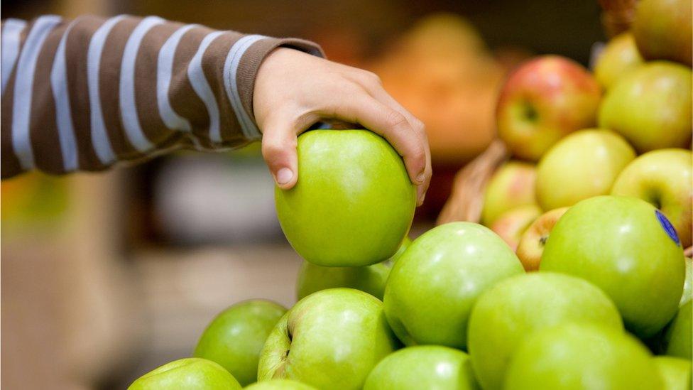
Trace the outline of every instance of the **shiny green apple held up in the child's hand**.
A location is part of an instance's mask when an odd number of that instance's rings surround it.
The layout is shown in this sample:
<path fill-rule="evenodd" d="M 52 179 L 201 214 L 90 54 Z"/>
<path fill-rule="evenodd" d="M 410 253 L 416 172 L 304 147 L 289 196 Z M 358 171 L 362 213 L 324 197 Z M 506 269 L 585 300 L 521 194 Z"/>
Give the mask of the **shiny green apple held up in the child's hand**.
<path fill-rule="evenodd" d="M 298 137 L 298 183 L 275 188 L 291 246 L 319 266 L 368 266 L 395 254 L 414 217 L 416 193 L 402 158 L 367 130 Z"/>

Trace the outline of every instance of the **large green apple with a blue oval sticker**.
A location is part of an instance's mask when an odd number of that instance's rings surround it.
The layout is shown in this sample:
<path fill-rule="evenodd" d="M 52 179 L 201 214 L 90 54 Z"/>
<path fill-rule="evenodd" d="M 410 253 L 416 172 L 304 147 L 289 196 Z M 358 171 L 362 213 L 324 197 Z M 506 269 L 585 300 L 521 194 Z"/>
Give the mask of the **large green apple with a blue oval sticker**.
<path fill-rule="evenodd" d="M 616 303 L 628 330 L 648 338 L 676 313 L 683 259 L 676 231 L 659 210 L 635 197 L 599 196 L 561 217 L 539 269 L 599 286 Z"/>

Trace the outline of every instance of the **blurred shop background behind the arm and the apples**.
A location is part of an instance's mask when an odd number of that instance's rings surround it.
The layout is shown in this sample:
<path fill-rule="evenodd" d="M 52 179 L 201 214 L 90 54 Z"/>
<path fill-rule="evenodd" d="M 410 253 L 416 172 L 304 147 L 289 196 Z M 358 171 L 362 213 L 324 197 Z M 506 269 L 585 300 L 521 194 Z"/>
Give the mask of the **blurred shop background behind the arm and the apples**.
<path fill-rule="evenodd" d="M 158 15 L 320 43 L 372 70 L 427 125 L 434 178 L 411 236 L 494 137 L 508 70 L 604 40 L 584 0 L 2 0 L 2 18 Z M 1 386 L 124 389 L 192 352 L 228 305 L 295 301 L 300 258 L 275 216 L 259 145 L 181 152 L 107 173 L 1 182 Z"/>

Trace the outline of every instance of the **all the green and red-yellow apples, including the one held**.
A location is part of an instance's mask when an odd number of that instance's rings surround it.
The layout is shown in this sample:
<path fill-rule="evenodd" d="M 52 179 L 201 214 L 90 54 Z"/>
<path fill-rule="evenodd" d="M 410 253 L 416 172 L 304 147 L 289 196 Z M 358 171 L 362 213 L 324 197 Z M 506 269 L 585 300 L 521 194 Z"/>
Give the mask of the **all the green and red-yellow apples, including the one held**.
<path fill-rule="evenodd" d="M 298 303 L 231 306 L 130 389 L 691 389 L 690 48 L 690 1 L 643 0 L 594 75 L 525 63 L 498 101 L 515 159 L 482 224 L 413 242 L 385 140 L 302 134 L 298 184 L 275 191 Z"/>

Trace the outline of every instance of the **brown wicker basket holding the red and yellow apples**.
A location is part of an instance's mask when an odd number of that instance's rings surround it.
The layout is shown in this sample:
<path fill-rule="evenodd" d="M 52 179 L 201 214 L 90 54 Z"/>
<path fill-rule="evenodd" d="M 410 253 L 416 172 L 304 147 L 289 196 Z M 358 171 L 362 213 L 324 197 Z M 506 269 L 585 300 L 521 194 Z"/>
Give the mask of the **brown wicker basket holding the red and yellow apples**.
<path fill-rule="evenodd" d="M 628 30 L 635 14 L 637 0 L 599 0 L 604 10 L 601 22 L 606 35 L 611 37 Z M 489 148 L 457 172 L 452 191 L 445 202 L 436 224 L 456 221 L 479 222 L 481 208 L 484 207 L 486 184 L 496 171 L 510 158 L 503 141 L 496 140 Z M 693 247 L 685 249 L 684 254 L 693 256 Z"/>

